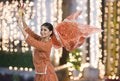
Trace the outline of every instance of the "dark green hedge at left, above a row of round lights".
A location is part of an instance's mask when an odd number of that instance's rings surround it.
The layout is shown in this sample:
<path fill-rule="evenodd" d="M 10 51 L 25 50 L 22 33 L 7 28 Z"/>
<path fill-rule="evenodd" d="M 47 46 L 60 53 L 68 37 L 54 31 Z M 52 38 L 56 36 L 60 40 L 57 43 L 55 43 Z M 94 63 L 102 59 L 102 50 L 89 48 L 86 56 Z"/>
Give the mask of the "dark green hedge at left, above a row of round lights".
<path fill-rule="evenodd" d="M 4 52 L 0 51 L 0 67 L 30 67 L 34 68 L 31 52 Z"/>

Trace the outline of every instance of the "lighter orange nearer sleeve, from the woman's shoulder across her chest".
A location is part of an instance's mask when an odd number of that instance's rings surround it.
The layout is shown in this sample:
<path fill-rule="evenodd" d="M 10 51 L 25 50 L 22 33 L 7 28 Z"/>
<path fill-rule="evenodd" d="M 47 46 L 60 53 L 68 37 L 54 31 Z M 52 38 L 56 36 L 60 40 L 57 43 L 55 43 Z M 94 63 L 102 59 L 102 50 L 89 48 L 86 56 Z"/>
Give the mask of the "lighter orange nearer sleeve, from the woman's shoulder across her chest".
<path fill-rule="evenodd" d="M 47 42 L 41 42 L 39 40 L 36 40 L 32 36 L 28 35 L 26 38 L 26 42 L 30 45 L 33 46 L 34 48 L 40 50 L 40 51 L 48 51 L 51 49 L 52 42 L 51 40 Z"/>

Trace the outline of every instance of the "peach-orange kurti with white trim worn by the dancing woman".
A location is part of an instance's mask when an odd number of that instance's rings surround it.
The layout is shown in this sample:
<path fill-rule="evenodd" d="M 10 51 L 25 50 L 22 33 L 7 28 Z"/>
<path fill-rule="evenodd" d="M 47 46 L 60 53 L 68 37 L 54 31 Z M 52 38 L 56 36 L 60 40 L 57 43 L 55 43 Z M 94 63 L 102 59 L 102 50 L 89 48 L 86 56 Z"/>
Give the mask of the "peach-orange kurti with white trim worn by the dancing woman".
<path fill-rule="evenodd" d="M 42 42 L 40 36 L 32 32 L 30 28 L 27 28 L 26 32 L 28 33 L 26 42 L 35 48 L 33 54 L 36 71 L 35 81 L 58 81 L 50 61 L 52 41 Z"/>

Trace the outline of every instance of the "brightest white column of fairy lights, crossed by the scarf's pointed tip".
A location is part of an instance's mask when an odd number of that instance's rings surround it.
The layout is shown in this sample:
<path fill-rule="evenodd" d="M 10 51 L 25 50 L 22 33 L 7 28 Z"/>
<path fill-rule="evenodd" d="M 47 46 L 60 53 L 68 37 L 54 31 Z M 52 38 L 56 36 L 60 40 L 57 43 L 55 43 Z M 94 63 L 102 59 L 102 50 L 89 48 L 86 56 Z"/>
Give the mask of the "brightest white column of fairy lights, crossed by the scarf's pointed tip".
<path fill-rule="evenodd" d="M 90 1 L 90 25 L 100 28 L 101 22 L 100 22 L 100 16 L 101 16 L 101 0 L 99 1 Z M 98 61 L 99 61 L 99 35 L 98 33 L 91 35 L 90 39 L 90 65 L 91 67 L 97 68 L 98 67 Z"/>

